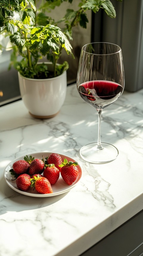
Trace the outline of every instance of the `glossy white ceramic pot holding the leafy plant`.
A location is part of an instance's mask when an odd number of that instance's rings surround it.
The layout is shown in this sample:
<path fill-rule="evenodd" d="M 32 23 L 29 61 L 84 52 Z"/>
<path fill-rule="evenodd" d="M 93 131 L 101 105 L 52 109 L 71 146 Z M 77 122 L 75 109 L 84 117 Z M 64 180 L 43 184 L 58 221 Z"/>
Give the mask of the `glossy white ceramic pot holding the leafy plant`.
<path fill-rule="evenodd" d="M 66 71 L 49 79 L 30 79 L 18 72 L 22 100 L 35 118 L 51 118 L 62 107 L 67 90 Z"/>

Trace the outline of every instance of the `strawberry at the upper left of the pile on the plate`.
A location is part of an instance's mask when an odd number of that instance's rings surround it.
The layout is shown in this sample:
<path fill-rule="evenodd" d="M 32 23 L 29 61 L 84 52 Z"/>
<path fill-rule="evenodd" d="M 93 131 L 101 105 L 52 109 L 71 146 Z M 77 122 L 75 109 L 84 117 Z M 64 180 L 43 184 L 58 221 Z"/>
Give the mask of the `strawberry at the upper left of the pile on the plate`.
<path fill-rule="evenodd" d="M 18 175 L 23 174 L 23 173 L 28 172 L 29 166 L 30 165 L 29 165 L 29 163 L 27 163 L 27 161 L 18 160 L 15 163 L 13 163 L 13 171 Z"/>

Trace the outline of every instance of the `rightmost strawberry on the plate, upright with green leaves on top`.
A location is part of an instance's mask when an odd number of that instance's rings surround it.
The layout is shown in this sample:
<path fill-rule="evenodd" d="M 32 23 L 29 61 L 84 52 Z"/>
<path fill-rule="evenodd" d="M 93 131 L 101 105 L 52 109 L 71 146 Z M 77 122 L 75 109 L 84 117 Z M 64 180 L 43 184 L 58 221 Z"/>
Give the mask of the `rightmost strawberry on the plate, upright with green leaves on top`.
<path fill-rule="evenodd" d="M 63 180 L 68 184 L 71 185 L 78 176 L 78 169 L 76 167 L 76 165 L 78 165 L 77 162 L 71 162 L 65 158 L 63 163 L 60 165 L 61 166 L 61 176 L 63 178 Z"/>

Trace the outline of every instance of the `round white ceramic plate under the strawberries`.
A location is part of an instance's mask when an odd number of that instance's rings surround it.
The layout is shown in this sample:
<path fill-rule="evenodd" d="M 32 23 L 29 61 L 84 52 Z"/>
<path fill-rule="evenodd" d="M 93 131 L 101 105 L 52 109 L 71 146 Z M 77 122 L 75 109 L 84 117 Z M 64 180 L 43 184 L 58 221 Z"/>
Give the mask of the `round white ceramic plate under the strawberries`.
<path fill-rule="evenodd" d="M 51 154 L 51 153 L 53 153 L 53 152 L 38 152 L 38 153 L 28 154 L 28 156 L 32 155 L 32 157 L 35 157 L 35 159 L 36 158 L 42 159 L 42 156 L 45 158 L 45 157 L 48 157 L 49 154 Z M 59 154 L 59 155 L 61 156 L 62 161 L 64 160 L 64 158 L 66 158 L 68 161 L 76 162 L 76 160 L 74 160 L 71 157 L 68 157 L 63 154 Z M 12 180 L 14 176 L 10 174 L 10 169 L 12 169 L 13 163 L 18 160 L 24 160 L 24 156 L 14 159 L 6 166 L 6 168 L 4 170 L 4 179 L 7 183 L 7 185 L 10 186 L 10 188 L 12 188 L 13 190 L 15 190 L 16 192 L 18 192 L 20 194 L 30 196 L 30 197 L 53 197 L 53 196 L 57 196 L 57 195 L 66 193 L 67 191 L 71 190 L 72 188 L 74 188 L 74 186 L 77 185 L 77 183 L 80 181 L 82 174 L 83 174 L 81 166 L 77 165 L 79 173 L 78 173 L 76 181 L 72 185 L 69 186 L 68 184 L 66 184 L 60 175 L 57 182 L 54 185 L 52 185 L 53 193 L 51 193 L 51 194 L 39 194 L 35 189 L 33 190 L 33 188 L 30 188 L 28 191 L 24 192 L 24 191 L 20 191 L 17 188 L 16 180 Z"/>

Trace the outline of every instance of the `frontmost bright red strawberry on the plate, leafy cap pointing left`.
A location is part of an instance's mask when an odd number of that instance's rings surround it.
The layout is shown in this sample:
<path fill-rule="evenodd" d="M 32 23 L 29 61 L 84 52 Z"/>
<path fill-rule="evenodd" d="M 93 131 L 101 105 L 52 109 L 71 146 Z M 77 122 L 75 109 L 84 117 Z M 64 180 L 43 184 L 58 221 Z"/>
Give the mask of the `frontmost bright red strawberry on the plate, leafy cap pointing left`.
<path fill-rule="evenodd" d="M 31 179 L 31 186 L 35 187 L 36 191 L 40 194 L 51 194 L 53 193 L 49 180 L 45 177 L 35 177 Z"/>

